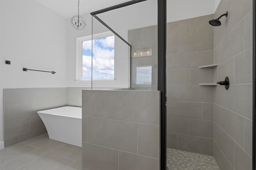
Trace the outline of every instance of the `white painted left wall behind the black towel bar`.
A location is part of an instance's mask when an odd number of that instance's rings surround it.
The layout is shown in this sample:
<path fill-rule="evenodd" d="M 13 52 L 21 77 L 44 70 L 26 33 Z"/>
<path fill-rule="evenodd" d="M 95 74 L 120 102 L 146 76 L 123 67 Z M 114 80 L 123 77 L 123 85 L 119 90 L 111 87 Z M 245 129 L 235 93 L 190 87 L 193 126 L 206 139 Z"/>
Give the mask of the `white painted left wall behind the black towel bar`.
<path fill-rule="evenodd" d="M 66 19 L 36 1 L 0 1 L 0 141 L 3 89 L 66 87 Z M 4 23 L 4 24 L 3 24 Z M 11 65 L 5 64 L 10 60 Z M 22 71 L 22 68 L 57 73 Z"/>

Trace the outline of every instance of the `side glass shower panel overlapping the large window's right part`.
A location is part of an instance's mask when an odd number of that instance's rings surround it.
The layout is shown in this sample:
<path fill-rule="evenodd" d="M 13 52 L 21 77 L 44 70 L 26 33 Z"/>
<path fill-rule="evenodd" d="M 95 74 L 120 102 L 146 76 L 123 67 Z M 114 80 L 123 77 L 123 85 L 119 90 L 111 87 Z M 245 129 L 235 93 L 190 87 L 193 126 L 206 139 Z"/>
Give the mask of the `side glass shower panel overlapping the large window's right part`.
<path fill-rule="evenodd" d="M 92 88 L 130 88 L 130 46 L 97 18 L 92 17 Z"/>

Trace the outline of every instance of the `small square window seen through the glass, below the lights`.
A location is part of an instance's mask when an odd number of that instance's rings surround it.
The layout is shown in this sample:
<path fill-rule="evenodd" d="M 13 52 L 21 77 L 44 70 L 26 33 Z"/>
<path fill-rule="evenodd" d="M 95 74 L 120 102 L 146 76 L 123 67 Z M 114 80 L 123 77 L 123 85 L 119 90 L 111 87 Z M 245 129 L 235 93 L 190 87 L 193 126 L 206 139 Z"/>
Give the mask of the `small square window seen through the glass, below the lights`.
<path fill-rule="evenodd" d="M 152 83 L 152 66 L 137 66 L 136 67 L 136 84 L 151 84 Z"/>

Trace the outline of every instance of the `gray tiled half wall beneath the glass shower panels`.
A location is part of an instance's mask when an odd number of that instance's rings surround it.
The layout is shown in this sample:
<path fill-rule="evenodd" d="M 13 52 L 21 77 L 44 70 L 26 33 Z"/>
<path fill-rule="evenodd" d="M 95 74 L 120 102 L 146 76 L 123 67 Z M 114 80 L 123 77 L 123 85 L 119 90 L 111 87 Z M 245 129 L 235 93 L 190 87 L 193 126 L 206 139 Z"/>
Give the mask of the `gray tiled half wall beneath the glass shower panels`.
<path fill-rule="evenodd" d="M 82 90 L 82 167 L 158 170 L 159 100 L 151 90 Z"/>

